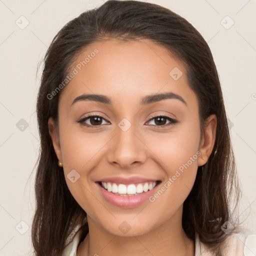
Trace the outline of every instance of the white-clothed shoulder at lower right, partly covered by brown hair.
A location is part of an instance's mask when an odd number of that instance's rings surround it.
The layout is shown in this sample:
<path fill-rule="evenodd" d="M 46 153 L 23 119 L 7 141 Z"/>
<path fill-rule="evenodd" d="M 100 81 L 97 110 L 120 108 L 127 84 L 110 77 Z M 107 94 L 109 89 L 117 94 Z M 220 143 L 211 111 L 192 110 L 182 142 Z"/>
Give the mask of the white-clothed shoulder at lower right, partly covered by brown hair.
<path fill-rule="evenodd" d="M 253 256 L 256 255 L 256 234 L 249 231 L 231 232 L 221 245 L 221 252 L 225 256 Z M 206 244 L 199 241 L 200 254 L 198 256 L 213 256 Z M 197 255 L 196 255 L 197 256 Z"/>

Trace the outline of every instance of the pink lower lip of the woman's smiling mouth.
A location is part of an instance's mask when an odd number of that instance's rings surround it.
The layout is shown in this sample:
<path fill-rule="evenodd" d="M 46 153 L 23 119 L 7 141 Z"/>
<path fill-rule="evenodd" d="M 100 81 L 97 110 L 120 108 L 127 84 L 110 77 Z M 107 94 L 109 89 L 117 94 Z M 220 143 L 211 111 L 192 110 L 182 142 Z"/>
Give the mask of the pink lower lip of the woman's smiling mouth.
<path fill-rule="evenodd" d="M 148 200 L 148 198 L 155 193 L 155 189 L 158 187 L 160 183 L 158 183 L 154 188 L 148 190 L 147 192 L 142 192 L 140 194 L 130 196 L 114 194 L 104 189 L 99 183 L 96 184 L 98 185 L 101 194 L 108 202 L 117 207 L 132 208 Z"/>

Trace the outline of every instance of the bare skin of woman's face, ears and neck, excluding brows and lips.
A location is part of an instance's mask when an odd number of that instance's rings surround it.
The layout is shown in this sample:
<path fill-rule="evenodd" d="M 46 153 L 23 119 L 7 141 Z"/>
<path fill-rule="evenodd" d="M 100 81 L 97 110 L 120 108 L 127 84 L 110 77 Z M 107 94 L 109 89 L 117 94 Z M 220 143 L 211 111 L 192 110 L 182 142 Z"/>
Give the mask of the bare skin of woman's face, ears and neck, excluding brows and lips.
<path fill-rule="evenodd" d="M 58 126 L 52 118 L 48 120 L 68 188 L 87 213 L 89 234 L 79 244 L 77 255 L 194 255 L 194 242 L 181 225 L 182 205 L 197 167 L 212 151 L 216 116 L 208 117 L 200 136 L 196 95 L 188 86 L 184 66 L 165 48 L 150 40 L 95 42 L 79 54 L 73 67 L 94 48 L 99 52 L 61 92 Z M 183 72 L 178 80 L 169 75 L 174 67 Z M 180 95 L 186 104 L 164 99 L 140 106 L 143 96 L 163 92 Z M 107 95 L 113 104 L 83 100 L 70 107 L 83 93 Z M 98 127 L 76 122 L 92 112 L 103 117 Z M 161 115 L 178 123 L 166 126 L 170 122 L 166 119 L 160 127 L 152 118 Z M 131 123 L 125 132 L 118 127 L 123 118 Z M 93 125 L 90 120 L 86 123 Z M 154 202 L 116 207 L 104 199 L 95 184 L 100 178 L 117 175 L 139 175 L 164 184 L 197 151 L 201 155 Z M 72 169 L 80 174 L 74 183 L 67 178 Z M 131 227 L 126 234 L 118 228 L 124 220 Z"/>

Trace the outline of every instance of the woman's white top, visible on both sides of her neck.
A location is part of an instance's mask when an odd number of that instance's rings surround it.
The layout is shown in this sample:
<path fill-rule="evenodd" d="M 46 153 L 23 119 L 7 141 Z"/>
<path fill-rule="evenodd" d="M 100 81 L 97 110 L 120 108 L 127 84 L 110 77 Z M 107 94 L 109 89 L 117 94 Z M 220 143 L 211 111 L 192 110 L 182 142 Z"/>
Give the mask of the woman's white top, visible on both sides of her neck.
<path fill-rule="evenodd" d="M 62 256 L 76 256 L 80 233 L 76 232 L 73 239 L 65 247 Z M 244 233 L 230 233 L 225 241 L 223 255 L 225 256 L 255 256 L 256 255 L 256 234 L 245 235 Z M 214 256 L 207 250 L 207 245 L 202 243 L 198 234 L 195 234 L 194 256 Z"/>

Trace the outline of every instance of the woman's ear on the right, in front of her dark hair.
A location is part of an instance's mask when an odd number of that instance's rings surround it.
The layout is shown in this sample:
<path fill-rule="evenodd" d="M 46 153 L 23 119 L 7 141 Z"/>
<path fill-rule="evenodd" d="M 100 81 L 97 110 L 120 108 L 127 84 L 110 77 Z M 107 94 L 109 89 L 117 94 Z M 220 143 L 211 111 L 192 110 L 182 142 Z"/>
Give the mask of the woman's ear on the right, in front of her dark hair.
<path fill-rule="evenodd" d="M 197 164 L 201 166 L 205 164 L 212 152 L 217 128 L 217 117 L 215 114 L 211 114 L 204 123 L 202 140 L 199 151 L 201 152 L 198 158 Z"/>

